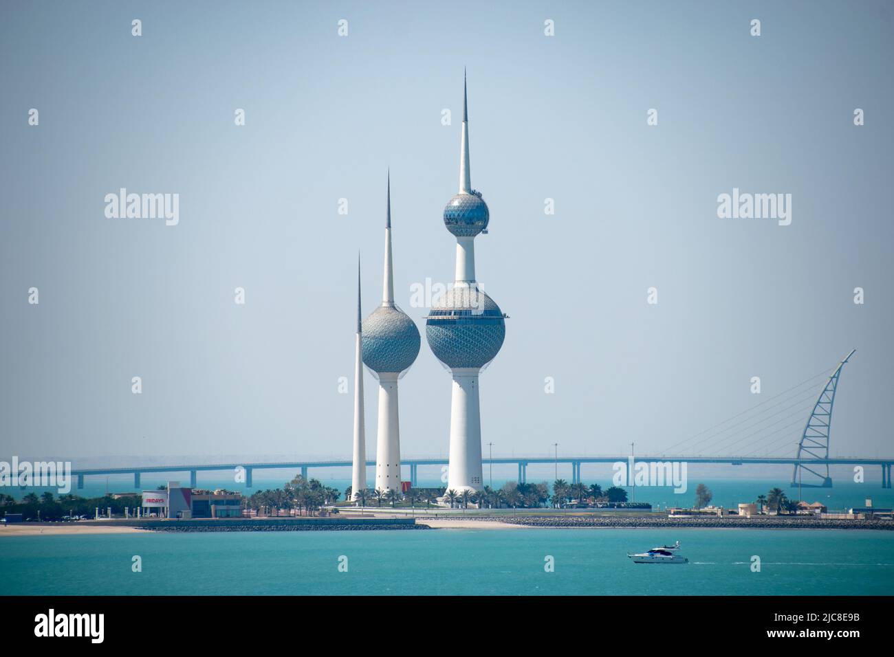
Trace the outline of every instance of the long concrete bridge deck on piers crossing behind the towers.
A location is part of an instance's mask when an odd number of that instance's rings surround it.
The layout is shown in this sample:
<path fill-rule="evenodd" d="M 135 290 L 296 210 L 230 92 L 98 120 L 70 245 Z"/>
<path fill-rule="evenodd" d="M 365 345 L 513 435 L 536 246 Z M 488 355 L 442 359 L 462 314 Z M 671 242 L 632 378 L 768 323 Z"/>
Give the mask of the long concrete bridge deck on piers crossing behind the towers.
<path fill-rule="evenodd" d="M 577 484 L 581 481 L 580 467 L 584 463 L 617 463 L 622 461 L 628 463 L 629 456 L 562 456 L 562 457 L 493 457 L 493 459 L 482 459 L 485 466 L 515 464 L 519 467 L 519 482 L 527 482 L 527 466 L 532 464 L 548 464 L 571 466 L 571 483 Z M 785 465 L 800 467 L 828 467 L 828 466 L 879 466 L 881 467 L 881 487 L 891 487 L 891 464 L 894 463 L 894 457 L 890 458 L 872 458 L 872 459 L 855 459 L 855 458 L 829 458 L 829 459 L 797 459 L 789 457 L 736 457 L 736 456 L 685 456 L 685 455 L 657 455 L 657 456 L 637 456 L 636 462 L 686 462 L 687 464 L 695 463 L 714 463 L 731 466 L 762 466 L 762 465 Z M 72 475 L 78 477 L 78 488 L 84 487 L 84 477 L 86 476 L 106 476 L 106 475 L 133 475 L 133 485 L 139 489 L 140 475 L 149 473 L 190 473 L 190 486 L 195 488 L 197 484 L 198 472 L 223 471 L 229 470 L 232 473 L 238 472 L 237 468 L 244 471 L 244 480 L 246 486 L 252 487 L 252 473 L 254 470 L 274 470 L 285 469 L 292 472 L 299 472 L 304 478 L 308 477 L 308 471 L 311 468 L 318 467 L 351 467 L 350 459 L 333 459 L 333 460 L 296 460 L 296 461 L 277 461 L 272 463 L 217 463 L 206 465 L 174 465 L 174 466 L 140 466 L 140 467 L 105 467 L 90 469 L 72 469 Z M 446 466 L 448 459 L 445 457 L 436 457 L 430 459 L 403 459 L 401 465 L 409 466 L 409 481 L 415 486 L 417 485 L 417 473 L 419 466 Z M 368 460 L 367 466 L 375 467 L 375 461 Z M 794 482 L 793 484 L 797 484 Z M 811 484 L 804 484 L 805 487 Z M 826 478 L 822 484 L 823 487 L 831 486 L 831 478 Z"/>

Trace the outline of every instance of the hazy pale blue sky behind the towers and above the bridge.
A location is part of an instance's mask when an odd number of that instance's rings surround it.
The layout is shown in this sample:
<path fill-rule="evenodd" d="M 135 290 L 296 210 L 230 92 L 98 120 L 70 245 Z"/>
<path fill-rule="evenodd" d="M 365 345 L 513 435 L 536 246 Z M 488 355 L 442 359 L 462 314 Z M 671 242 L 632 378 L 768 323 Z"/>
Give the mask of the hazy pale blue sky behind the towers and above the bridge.
<path fill-rule="evenodd" d="M 452 280 L 441 214 L 458 187 L 463 66 L 472 183 L 491 210 L 477 274 L 510 315 L 481 379 L 495 454 L 660 450 L 855 347 L 832 451 L 891 454 L 892 14 L 4 2 L 0 457 L 349 456 L 338 379 L 352 372 L 357 251 L 366 315 L 390 166 L 397 301 L 424 333 L 409 289 Z M 105 218 L 122 187 L 178 193 L 179 225 Z M 790 193 L 792 223 L 718 218 L 734 187 Z M 366 389 L 372 455 L 368 375 Z M 423 340 L 401 381 L 405 457 L 447 453 L 450 390 Z M 799 431 L 767 449 L 793 454 Z"/>

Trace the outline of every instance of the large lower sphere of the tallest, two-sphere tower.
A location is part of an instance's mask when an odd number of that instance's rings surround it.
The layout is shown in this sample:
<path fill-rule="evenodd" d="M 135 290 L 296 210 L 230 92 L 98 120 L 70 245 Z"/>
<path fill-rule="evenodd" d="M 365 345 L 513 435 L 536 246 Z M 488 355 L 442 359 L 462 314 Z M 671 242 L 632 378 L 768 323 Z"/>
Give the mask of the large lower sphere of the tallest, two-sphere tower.
<path fill-rule="evenodd" d="M 426 318 L 428 346 L 435 358 L 451 369 L 487 365 L 505 337 L 502 310 L 474 286 L 448 291 Z"/>

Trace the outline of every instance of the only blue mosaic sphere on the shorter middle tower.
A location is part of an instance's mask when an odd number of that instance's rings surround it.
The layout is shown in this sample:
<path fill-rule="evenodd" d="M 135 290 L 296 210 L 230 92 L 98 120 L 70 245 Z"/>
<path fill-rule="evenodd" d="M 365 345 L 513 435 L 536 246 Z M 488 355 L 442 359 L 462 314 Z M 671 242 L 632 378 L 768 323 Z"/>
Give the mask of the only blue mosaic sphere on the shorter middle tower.
<path fill-rule="evenodd" d="M 377 307 L 363 320 L 363 362 L 374 372 L 408 369 L 421 342 L 416 324 L 399 307 Z"/>

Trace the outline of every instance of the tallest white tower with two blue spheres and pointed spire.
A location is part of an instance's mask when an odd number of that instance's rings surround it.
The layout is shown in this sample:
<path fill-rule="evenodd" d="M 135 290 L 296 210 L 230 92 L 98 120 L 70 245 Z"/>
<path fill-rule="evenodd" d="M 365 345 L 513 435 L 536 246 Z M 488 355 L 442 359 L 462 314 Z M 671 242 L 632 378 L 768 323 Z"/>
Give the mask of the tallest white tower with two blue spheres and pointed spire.
<path fill-rule="evenodd" d="M 450 368 L 453 376 L 447 487 L 461 493 L 482 488 L 478 373 L 497 355 L 506 336 L 506 316 L 475 280 L 475 236 L 487 228 L 490 213 L 481 193 L 472 190 L 465 76 L 460 191 L 444 207 L 443 218 L 447 230 L 456 237 L 456 282 L 426 317 L 426 338 L 434 356 Z"/>

